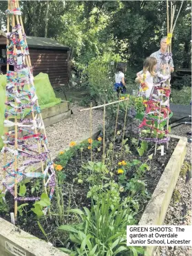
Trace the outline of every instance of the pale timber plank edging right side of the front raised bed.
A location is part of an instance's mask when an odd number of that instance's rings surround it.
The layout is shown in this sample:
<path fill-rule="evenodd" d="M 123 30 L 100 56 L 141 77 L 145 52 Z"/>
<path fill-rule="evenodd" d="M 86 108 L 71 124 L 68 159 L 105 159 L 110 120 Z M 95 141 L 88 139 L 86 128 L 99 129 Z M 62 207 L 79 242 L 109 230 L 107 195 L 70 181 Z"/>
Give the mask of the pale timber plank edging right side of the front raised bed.
<path fill-rule="evenodd" d="M 179 139 L 167 166 L 160 177 L 160 180 L 153 192 L 153 195 L 145 208 L 138 225 L 162 225 L 166 216 L 173 190 L 178 181 L 180 170 L 186 155 L 186 137 L 171 135 L 172 138 Z M 147 255 L 152 256 L 156 246 L 147 246 Z"/>

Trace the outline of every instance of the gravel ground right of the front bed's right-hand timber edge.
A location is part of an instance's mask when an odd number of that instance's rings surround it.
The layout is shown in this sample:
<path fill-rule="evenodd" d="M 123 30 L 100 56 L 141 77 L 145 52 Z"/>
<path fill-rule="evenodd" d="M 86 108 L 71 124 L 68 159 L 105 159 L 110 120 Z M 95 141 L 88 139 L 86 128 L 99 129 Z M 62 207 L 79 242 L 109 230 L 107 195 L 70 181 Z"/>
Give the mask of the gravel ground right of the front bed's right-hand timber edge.
<path fill-rule="evenodd" d="M 171 130 L 173 135 L 186 137 L 186 132 L 191 130 L 190 126 L 182 125 Z M 186 150 L 186 163 L 191 163 L 191 143 L 188 143 Z M 184 168 L 184 165 L 183 165 Z M 178 191 L 178 200 L 172 197 L 164 225 L 191 225 L 191 179 L 185 183 L 185 177 L 180 174 L 175 191 Z M 191 246 L 158 246 L 153 256 L 187 256 L 192 255 Z"/>

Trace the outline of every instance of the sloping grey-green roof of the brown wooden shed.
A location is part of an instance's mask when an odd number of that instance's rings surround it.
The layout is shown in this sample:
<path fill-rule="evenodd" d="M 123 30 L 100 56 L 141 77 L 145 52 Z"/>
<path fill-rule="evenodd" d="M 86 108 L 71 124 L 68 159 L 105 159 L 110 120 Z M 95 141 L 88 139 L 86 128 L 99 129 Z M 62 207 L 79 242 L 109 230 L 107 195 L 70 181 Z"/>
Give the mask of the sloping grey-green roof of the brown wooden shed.
<path fill-rule="evenodd" d="M 6 33 L 0 30 L 0 35 L 6 37 Z M 53 49 L 53 50 L 70 50 L 69 46 L 63 46 L 63 44 L 58 43 L 58 41 L 45 38 L 45 37 L 31 37 L 27 36 L 28 46 L 30 48 L 43 48 L 43 49 Z"/>

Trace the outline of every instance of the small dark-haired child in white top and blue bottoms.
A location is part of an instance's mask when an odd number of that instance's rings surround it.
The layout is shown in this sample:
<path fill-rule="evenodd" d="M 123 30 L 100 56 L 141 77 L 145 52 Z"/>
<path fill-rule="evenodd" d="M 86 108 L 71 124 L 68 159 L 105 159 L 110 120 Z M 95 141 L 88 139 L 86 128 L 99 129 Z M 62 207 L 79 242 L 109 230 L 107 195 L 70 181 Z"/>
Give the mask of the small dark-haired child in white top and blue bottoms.
<path fill-rule="evenodd" d="M 118 63 L 116 67 L 116 73 L 115 73 L 115 81 L 114 83 L 114 90 L 118 93 L 118 96 L 120 93 L 126 92 L 125 87 L 125 75 L 124 72 L 126 71 L 126 64 L 125 63 Z"/>

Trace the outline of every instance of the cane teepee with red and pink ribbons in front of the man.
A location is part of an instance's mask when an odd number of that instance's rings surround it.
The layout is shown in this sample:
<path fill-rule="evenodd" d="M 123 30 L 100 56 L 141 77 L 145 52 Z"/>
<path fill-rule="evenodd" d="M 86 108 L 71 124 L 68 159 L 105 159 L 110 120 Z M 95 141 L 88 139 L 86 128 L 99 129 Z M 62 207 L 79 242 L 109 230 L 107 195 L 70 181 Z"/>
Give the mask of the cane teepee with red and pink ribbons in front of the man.
<path fill-rule="evenodd" d="M 182 1 L 183 3 L 183 1 Z M 182 8 L 182 3 L 180 10 Z M 180 13 L 178 12 L 178 15 Z M 171 2 L 171 19 L 169 26 L 169 3 L 167 0 L 167 51 L 162 54 L 160 61 L 158 62 L 159 70 L 162 68 L 162 72 L 158 71 L 158 83 L 155 83 L 149 100 L 144 101 L 146 106 L 145 116 L 140 124 L 140 140 L 153 141 L 156 143 L 155 155 L 157 150 L 157 144 L 169 144 L 169 115 L 171 110 L 169 108 L 169 96 L 171 94 L 170 79 L 171 68 L 169 63 L 171 61 L 171 38 L 175 23 L 178 19 L 178 15 L 173 25 L 173 18 L 175 14 L 175 6 Z M 148 136 L 146 136 L 148 134 Z"/>

